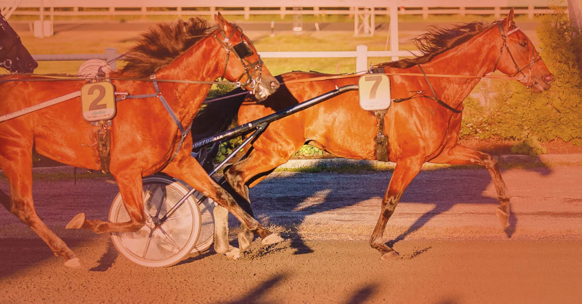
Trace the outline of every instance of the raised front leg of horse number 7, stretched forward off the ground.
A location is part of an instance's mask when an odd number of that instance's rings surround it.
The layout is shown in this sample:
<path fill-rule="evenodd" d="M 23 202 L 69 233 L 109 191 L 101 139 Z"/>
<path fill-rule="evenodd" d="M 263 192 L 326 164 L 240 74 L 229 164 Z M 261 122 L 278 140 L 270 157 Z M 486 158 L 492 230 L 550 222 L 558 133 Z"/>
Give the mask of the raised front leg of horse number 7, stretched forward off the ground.
<path fill-rule="evenodd" d="M 478 164 L 485 167 L 497 191 L 499 208 L 495 210 L 495 215 L 498 217 L 503 229 L 509 227 L 510 205 L 508 188 L 501 177 L 499 163 L 491 155 L 467 148 L 463 145 L 455 145 L 448 151 L 443 151 L 437 158 L 432 159 L 431 163 Z"/>

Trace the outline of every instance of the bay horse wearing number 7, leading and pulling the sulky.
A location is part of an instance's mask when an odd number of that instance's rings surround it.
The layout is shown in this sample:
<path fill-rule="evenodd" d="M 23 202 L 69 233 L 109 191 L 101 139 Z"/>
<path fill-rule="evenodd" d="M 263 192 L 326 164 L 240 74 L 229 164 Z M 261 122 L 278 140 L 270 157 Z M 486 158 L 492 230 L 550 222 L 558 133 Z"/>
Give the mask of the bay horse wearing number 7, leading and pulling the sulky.
<path fill-rule="evenodd" d="M 388 160 L 396 162 L 370 238 L 370 245 L 381 253 L 381 259 L 398 256 L 382 240 L 382 234 L 404 189 L 425 162 L 485 167 L 500 202 L 495 214 L 501 226 L 508 227 L 510 197 L 498 163 L 487 153 L 459 144 L 463 99 L 482 76 L 495 70 L 514 76 L 514 80 L 527 85 L 533 92 L 548 90 L 554 80 L 531 40 L 514 25 L 513 9 L 506 19 L 492 24 L 473 22 L 450 28 L 431 27 L 414 41 L 423 55 L 378 65 L 384 68 L 391 80 L 392 98 L 414 96 L 407 101 L 394 102 L 385 113 L 384 128 L 380 130 L 388 137 Z M 405 75 L 407 73 L 409 75 Z M 431 74 L 453 77 L 431 77 Z M 197 126 L 211 126 L 213 123 L 220 128 L 228 124 L 206 122 L 216 117 L 229 117 L 227 111 L 232 118 L 236 115 L 233 109 L 240 106 L 237 120 L 242 125 L 335 88 L 357 84 L 359 75 L 355 76 L 285 73 L 277 77 L 282 87 L 265 101 L 239 96 L 210 102 L 194 121 Z M 377 159 L 378 124 L 373 112 L 360 108 L 357 92 L 346 92 L 276 120 L 248 147 L 250 154 L 247 158 L 225 170 L 228 184 L 224 187 L 232 187 L 237 201 L 250 212 L 248 188 L 287 162 L 304 144 L 341 158 Z M 196 130 L 196 133 L 204 137 L 211 133 L 211 129 Z M 217 220 L 217 223 L 227 222 Z M 239 246 L 244 251 L 253 240 L 253 234 L 244 224 L 242 228 Z M 215 238 L 215 242 L 228 242 L 228 239 Z"/>

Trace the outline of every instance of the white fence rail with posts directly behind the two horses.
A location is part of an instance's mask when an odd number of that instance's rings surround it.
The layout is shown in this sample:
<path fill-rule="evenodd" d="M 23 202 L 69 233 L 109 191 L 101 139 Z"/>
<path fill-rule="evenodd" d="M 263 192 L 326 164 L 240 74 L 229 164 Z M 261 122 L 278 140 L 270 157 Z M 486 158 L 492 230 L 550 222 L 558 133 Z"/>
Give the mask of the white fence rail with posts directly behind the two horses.
<path fill-rule="evenodd" d="M 262 58 L 356 58 L 356 72 L 368 70 L 368 57 L 393 57 L 420 55 L 420 51 L 368 51 L 367 45 L 358 45 L 356 51 L 336 52 L 258 52 Z M 74 61 L 102 59 L 109 62 L 112 69 L 116 69 L 116 59 L 120 54 L 116 48 L 106 48 L 101 54 L 73 54 L 73 55 L 33 55 L 37 61 Z"/>

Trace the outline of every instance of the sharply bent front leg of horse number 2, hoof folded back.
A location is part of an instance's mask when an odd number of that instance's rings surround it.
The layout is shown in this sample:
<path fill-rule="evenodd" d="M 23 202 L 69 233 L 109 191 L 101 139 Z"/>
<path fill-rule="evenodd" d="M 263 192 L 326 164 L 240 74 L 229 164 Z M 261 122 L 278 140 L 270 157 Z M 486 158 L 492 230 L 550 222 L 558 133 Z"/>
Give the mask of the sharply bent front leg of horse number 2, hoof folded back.
<path fill-rule="evenodd" d="M 145 224 L 143 204 L 143 184 L 139 171 L 117 171 L 112 168 L 111 174 L 115 177 L 119 193 L 123 199 L 123 206 L 129 214 L 129 221 L 112 223 L 111 221 L 88 220 L 84 213 L 79 213 L 69 221 L 68 229 L 87 229 L 94 233 L 135 232 Z"/>

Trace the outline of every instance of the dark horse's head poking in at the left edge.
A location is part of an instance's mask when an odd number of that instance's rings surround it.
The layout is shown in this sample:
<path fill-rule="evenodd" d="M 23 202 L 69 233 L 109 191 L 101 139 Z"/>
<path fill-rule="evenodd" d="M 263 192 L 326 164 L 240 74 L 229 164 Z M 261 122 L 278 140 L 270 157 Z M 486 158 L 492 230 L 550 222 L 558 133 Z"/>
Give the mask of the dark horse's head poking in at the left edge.
<path fill-rule="evenodd" d="M 0 67 L 10 73 L 32 73 L 38 63 L 0 12 Z"/>

